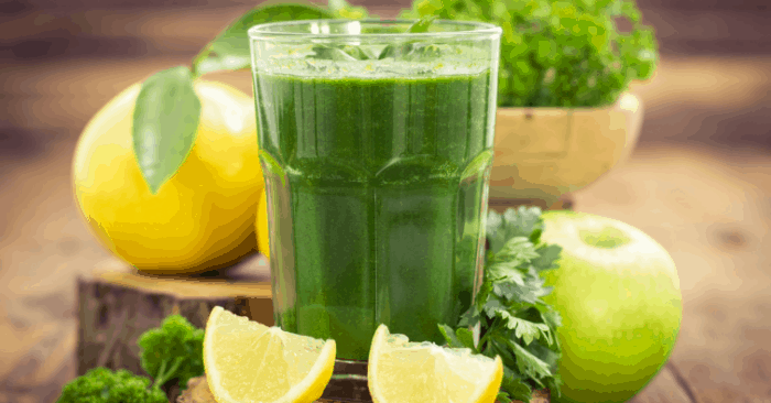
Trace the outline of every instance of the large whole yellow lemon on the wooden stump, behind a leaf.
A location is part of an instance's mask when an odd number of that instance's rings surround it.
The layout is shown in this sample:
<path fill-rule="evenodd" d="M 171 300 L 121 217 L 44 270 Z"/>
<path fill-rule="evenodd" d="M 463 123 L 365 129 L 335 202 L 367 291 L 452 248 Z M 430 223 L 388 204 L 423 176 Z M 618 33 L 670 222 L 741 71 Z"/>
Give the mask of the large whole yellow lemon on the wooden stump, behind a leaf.
<path fill-rule="evenodd" d="M 140 88 L 127 88 L 99 110 L 75 150 L 75 195 L 97 238 L 137 269 L 164 274 L 221 269 L 254 251 L 264 182 L 252 99 L 227 85 L 197 80 L 202 109 L 195 142 L 153 195 L 132 148 Z"/>

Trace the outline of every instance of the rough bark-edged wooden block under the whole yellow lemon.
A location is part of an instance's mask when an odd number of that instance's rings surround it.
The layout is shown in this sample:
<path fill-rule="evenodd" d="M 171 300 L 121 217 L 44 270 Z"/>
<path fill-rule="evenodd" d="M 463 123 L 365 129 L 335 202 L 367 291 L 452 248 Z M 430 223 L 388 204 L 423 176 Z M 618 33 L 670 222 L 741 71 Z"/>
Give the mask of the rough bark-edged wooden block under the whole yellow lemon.
<path fill-rule="evenodd" d="M 137 339 L 169 315 L 205 328 L 214 306 L 273 325 L 270 270 L 252 255 L 220 273 L 150 275 L 116 260 L 78 279 L 77 374 L 106 367 L 148 375 Z M 175 399 L 175 391 L 166 391 Z"/>

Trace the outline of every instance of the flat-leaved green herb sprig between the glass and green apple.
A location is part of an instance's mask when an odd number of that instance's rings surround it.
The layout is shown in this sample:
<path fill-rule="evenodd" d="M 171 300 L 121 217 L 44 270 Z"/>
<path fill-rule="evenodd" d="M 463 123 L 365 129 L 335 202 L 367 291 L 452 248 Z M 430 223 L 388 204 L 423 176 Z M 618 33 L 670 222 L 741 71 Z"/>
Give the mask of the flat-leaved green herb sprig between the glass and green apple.
<path fill-rule="evenodd" d="M 557 373 L 562 348 L 560 314 L 541 297 L 551 293 L 540 273 L 555 269 L 562 248 L 541 242 L 537 207 L 490 211 L 487 219 L 485 276 L 474 305 L 457 328 L 439 325 L 449 347 L 466 347 L 487 357 L 500 356 L 503 382 L 498 401 L 530 401 L 533 388 L 560 395 Z M 469 328 L 479 326 L 479 334 Z"/>

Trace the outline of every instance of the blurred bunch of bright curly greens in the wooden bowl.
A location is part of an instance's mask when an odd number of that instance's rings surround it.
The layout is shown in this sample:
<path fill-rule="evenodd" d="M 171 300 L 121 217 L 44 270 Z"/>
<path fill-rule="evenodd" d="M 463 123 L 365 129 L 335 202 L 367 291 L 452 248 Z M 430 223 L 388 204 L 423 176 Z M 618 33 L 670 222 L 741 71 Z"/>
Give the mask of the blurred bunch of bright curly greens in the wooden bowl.
<path fill-rule="evenodd" d="M 414 0 L 402 18 L 500 25 L 498 105 L 600 107 L 655 69 L 658 45 L 633 0 Z M 619 29 L 626 20 L 631 31 Z"/>

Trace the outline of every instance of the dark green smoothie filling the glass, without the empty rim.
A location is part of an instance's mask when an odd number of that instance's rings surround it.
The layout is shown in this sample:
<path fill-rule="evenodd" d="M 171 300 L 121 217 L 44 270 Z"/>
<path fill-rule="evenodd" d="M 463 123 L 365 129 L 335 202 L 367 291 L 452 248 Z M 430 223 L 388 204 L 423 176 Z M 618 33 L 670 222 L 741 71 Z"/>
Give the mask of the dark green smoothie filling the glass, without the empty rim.
<path fill-rule="evenodd" d="M 366 360 L 442 342 L 481 277 L 490 74 L 254 78 L 276 325 Z"/>

